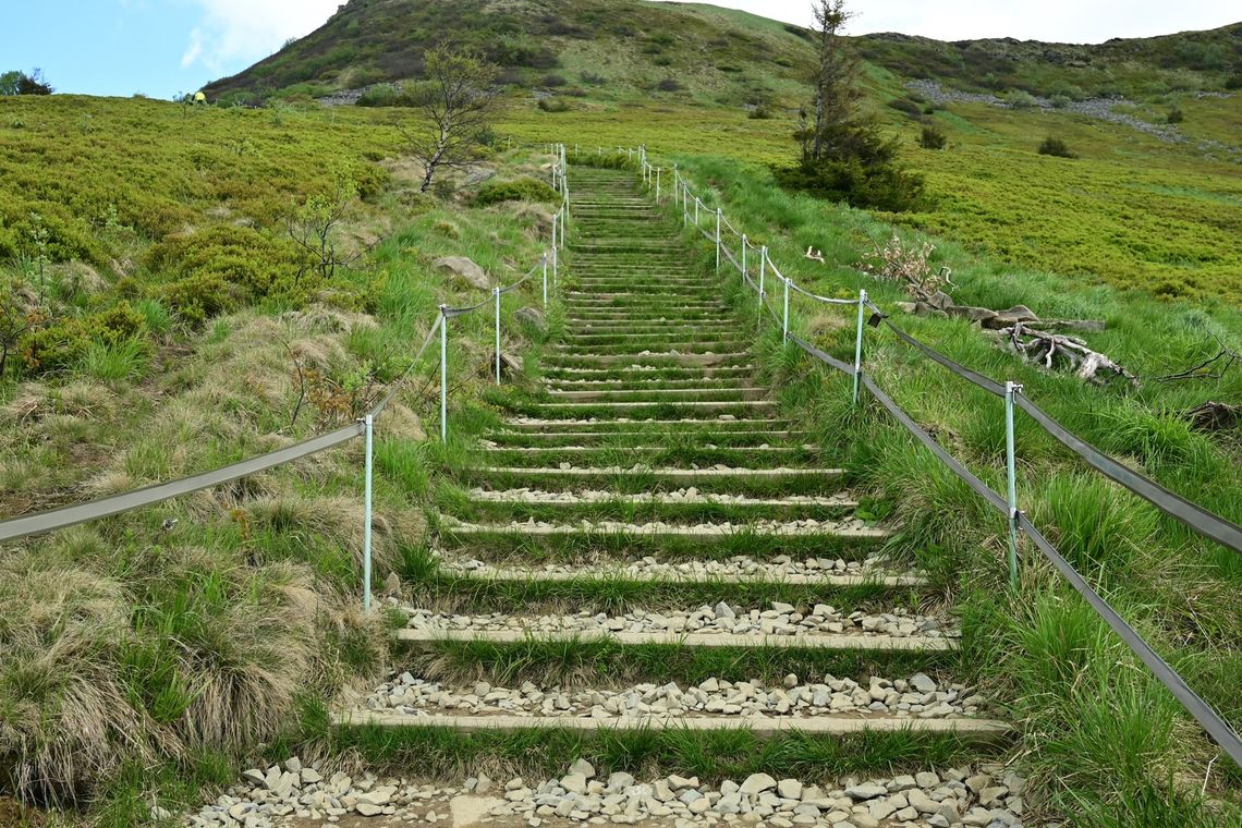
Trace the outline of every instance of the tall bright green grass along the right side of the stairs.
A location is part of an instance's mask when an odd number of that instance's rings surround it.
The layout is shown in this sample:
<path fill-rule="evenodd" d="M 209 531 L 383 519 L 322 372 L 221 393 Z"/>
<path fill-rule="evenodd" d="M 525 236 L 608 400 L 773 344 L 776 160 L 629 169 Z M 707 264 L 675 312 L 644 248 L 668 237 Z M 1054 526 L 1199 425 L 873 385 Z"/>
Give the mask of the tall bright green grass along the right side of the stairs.
<path fill-rule="evenodd" d="M 730 220 L 766 243 L 786 273 L 821 294 L 866 287 L 882 305 L 894 286 L 861 277 L 852 264 L 866 233 L 893 230 L 866 214 L 794 197 L 765 173 L 720 159 L 681 158 L 683 170 L 717 187 Z M 864 233 L 866 231 L 866 233 Z M 903 236 L 913 236 L 900 231 Z M 687 236 L 689 240 L 689 235 Z M 807 245 L 828 266 L 801 261 Z M 709 253 L 703 250 L 703 258 Z M 1158 302 L 1141 293 L 1076 283 L 1002 267 L 941 243 L 935 266 L 954 269 L 966 304 L 1027 304 L 1041 315 L 1107 318 L 1092 344 L 1144 379 L 1139 391 L 1083 387 L 1022 365 L 963 322 L 903 317 L 899 324 L 953 359 L 1026 394 L 1071 431 L 1143 467 L 1202 505 L 1242 519 L 1242 453 L 1233 432 L 1192 430 L 1177 412 L 1203 398 L 1242 395 L 1242 371 L 1216 380 L 1163 384 L 1155 376 L 1210 356 L 1212 335 L 1236 341 L 1236 309 Z M 759 336 L 761 376 L 800 423 L 840 439 L 859 487 L 883 492 L 904 521 L 898 545 L 936 549 L 969 632 L 966 653 L 992 695 L 1009 698 L 1023 725 L 1018 752 L 1035 773 L 1035 813 L 1089 826 L 1233 826 L 1242 823 L 1242 771 L 1220 755 L 1180 705 L 1072 588 L 1023 545 L 1022 583 L 1005 587 L 1004 523 L 878 405 L 850 407 L 850 380 L 782 348 L 754 295 L 734 290 Z M 851 320 L 794 303 L 794 330 L 842 359 L 852 356 Z M 1206 355 L 1206 356 L 1205 356 Z M 867 370 L 914 418 L 994 488 L 1004 490 L 1000 403 L 976 392 L 883 331 L 868 331 Z M 795 413 L 797 412 L 797 413 Z M 1236 431 L 1236 430 L 1235 430 Z M 1190 535 L 1148 504 L 1084 473 L 1021 415 L 1018 503 L 1068 560 L 1151 642 L 1235 729 L 1242 727 L 1242 559 Z M 1016 754 L 1017 755 L 1017 754 Z M 1205 793 L 1201 793 L 1203 791 Z"/>

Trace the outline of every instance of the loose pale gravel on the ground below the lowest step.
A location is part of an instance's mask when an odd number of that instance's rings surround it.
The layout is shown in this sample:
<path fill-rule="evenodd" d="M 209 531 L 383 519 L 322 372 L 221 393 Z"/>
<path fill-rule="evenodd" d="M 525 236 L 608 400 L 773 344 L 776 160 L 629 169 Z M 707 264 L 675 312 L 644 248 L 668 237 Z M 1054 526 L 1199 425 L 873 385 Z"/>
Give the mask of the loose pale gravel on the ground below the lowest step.
<path fill-rule="evenodd" d="M 355 778 L 289 758 L 247 770 L 237 785 L 186 814 L 181 824 L 274 828 L 388 817 L 385 824 L 433 826 L 453 824 L 461 809 L 477 814 L 477 824 L 527 828 L 657 822 L 672 828 L 722 822 L 746 828 L 1023 828 L 1033 826 L 1025 822 L 1026 794 L 1022 776 L 991 763 L 868 780 L 777 780 L 753 773 L 714 785 L 678 775 L 640 782 L 623 771 L 606 773 L 578 760 L 559 778 L 514 777 L 501 783 L 479 773 L 458 785 L 435 785 L 371 773 Z M 166 814 L 158 807 L 152 812 Z"/>

